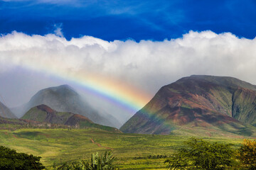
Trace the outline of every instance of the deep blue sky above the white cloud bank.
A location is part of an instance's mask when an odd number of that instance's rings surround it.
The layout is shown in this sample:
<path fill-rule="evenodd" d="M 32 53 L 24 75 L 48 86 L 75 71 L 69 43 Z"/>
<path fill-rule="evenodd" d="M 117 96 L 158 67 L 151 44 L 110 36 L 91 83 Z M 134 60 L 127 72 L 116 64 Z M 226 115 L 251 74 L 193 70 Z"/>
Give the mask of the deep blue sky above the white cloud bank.
<path fill-rule="evenodd" d="M 62 28 L 68 40 L 164 40 L 189 30 L 256 36 L 255 0 L 69 1 L 0 0 L 0 33 L 46 35 Z"/>

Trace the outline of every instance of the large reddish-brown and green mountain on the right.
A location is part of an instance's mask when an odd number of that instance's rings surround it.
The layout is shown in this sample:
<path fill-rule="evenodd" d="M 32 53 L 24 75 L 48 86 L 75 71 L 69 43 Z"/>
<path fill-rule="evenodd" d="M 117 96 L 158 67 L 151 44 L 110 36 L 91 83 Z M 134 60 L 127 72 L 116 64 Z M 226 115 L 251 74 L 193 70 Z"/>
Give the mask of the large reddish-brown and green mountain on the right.
<path fill-rule="evenodd" d="M 193 75 L 163 86 L 120 130 L 169 134 L 200 129 L 253 135 L 252 125 L 256 125 L 255 85 L 233 77 Z"/>

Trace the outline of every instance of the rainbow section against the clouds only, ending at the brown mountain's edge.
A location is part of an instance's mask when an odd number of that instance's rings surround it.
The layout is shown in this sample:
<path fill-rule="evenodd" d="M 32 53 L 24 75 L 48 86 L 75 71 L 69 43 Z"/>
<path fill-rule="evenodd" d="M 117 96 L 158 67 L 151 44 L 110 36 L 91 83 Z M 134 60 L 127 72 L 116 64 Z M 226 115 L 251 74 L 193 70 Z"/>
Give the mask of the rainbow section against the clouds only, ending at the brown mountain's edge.
<path fill-rule="evenodd" d="M 124 108 L 131 113 L 139 111 L 150 100 L 149 94 L 131 85 L 124 84 L 117 79 L 106 78 L 99 74 L 92 74 L 91 72 L 87 73 L 84 71 L 73 74 L 59 70 L 58 68 L 54 69 L 41 66 L 41 64 L 37 64 L 36 67 L 33 65 L 35 64 L 26 63 L 23 67 L 50 74 L 51 76 L 58 77 L 58 79 L 70 81 L 90 94 L 103 98 L 107 102 L 114 103 L 115 106 Z"/>

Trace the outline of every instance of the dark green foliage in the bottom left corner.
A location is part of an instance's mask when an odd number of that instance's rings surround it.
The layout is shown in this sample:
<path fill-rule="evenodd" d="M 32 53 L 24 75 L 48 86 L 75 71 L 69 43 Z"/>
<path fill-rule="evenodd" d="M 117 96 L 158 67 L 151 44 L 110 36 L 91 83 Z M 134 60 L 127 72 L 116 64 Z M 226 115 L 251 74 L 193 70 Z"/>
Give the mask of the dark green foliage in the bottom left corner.
<path fill-rule="evenodd" d="M 0 169 L 44 169 L 45 167 L 40 163 L 40 159 L 41 157 L 35 157 L 33 154 L 17 153 L 14 149 L 0 146 Z"/>

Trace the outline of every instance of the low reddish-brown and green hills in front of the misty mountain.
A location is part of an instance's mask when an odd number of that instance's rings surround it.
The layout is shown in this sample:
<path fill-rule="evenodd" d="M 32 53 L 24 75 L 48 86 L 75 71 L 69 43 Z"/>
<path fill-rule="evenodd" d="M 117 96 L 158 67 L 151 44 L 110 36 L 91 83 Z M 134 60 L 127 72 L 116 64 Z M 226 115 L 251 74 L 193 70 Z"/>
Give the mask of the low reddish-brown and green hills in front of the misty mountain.
<path fill-rule="evenodd" d="M 75 128 L 98 128 L 111 132 L 119 132 L 117 128 L 99 125 L 83 115 L 70 112 L 58 112 L 46 105 L 31 108 L 21 119 L 32 120 L 39 123 L 50 123 L 58 125 L 70 125 Z"/>

